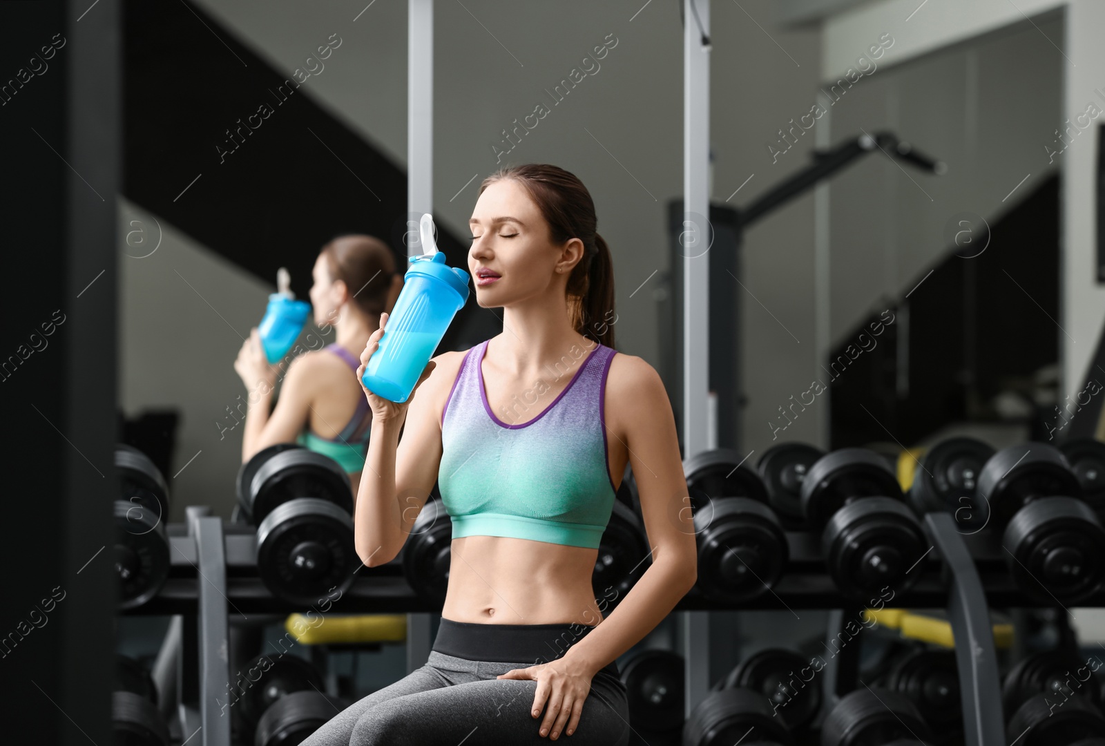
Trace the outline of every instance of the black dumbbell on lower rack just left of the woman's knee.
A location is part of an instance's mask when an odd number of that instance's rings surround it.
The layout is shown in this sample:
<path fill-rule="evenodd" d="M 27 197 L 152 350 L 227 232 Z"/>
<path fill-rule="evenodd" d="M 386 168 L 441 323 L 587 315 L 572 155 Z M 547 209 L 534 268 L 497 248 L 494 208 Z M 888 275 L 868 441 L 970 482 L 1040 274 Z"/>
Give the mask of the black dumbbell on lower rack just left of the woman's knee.
<path fill-rule="evenodd" d="M 234 686 L 241 691 L 230 702 L 236 705 L 235 726 L 242 740 L 253 734 L 254 746 L 298 744 L 348 706 L 324 694 L 318 670 L 293 654 L 257 655 Z"/>

